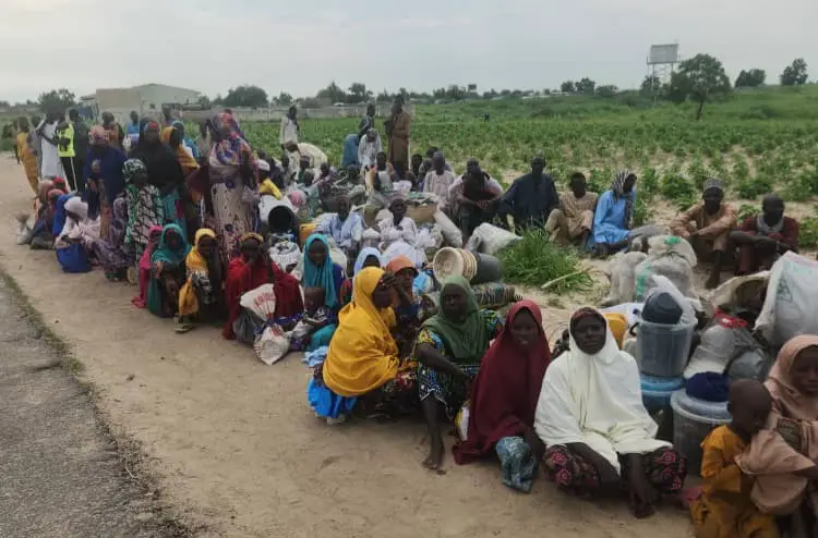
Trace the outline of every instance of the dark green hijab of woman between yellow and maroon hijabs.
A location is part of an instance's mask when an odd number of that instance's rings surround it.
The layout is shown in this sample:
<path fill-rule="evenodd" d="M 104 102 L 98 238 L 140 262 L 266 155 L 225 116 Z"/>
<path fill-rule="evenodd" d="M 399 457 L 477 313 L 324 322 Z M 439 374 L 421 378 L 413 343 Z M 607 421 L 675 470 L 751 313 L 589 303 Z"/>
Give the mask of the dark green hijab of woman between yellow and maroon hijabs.
<path fill-rule="evenodd" d="M 464 319 L 456 321 L 449 319 L 443 311 L 423 322 L 423 328 L 435 332 L 443 339 L 455 362 L 477 362 L 483 357 L 485 350 L 489 347 L 489 331 L 485 327 L 485 316 L 478 308 L 474 292 L 469 285 L 469 281 L 464 277 L 449 277 L 441 288 L 441 296 L 446 288 L 459 288 L 466 294 L 466 313 Z"/>

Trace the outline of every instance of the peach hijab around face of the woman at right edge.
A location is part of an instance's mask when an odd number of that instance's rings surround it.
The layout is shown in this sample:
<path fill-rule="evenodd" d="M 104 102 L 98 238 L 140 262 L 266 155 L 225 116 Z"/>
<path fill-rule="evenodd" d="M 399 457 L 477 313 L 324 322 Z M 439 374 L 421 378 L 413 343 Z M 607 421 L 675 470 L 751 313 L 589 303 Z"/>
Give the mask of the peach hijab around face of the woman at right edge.
<path fill-rule="evenodd" d="M 787 341 L 779 352 L 765 383 L 775 407 L 787 418 L 818 420 L 818 396 L 799 392 L 792 378 L 793 364 L 798 354 L 813 346 L 818 347 L 818 335 L 802 334 Z"/>

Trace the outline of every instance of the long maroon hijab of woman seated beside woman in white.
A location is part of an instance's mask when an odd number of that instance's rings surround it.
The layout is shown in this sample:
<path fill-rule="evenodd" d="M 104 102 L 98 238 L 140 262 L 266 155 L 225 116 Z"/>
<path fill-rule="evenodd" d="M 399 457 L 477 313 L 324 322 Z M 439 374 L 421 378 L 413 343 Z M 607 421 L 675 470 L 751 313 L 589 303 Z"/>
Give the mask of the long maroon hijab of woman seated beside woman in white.
<path fill-rule="evenodd" d="M 527 311 L 540 327 L 537 342 L 521 349 L 512 334 L 512 323 Z M 493 451 L 504 437 L 522 436 L 534 425 L 534 412 L 551 350 L 542 330 L 542 311 L 528 299 L 508 310 L 500 337 L 486 352 L 471 389 L 468 439 L 453 449 L 458 464 L 469 463 Z"/>

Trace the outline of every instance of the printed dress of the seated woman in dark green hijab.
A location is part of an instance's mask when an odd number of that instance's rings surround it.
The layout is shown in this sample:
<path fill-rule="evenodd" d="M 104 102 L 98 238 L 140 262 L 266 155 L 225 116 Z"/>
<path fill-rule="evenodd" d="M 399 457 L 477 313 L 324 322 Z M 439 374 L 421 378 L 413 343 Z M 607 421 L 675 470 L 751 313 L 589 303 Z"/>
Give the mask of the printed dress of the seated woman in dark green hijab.
<path fill-rule="evenodd" d="M 503 320 L 492 310 L 482 310 L 481 314 L 485 320 L 485 330 L 489 334 L 489 340 L 495 339 L 503 329 Z M 482 356 L 476 357 L 468 363 L 456 360 L 446 350 L 443 338 L 429 328 L 424 327 L 420 330 L 417 344 L 429 344 L 434 347 L 441 355 L 457 364 L 469 377 L 469 380 L 473 380 L 480 370 Z M 446 415 L 449 419 L 455 418 L 455 415 L 457 415 L 457 412 L 460 411 L 460 407 L 462 407 L 464 402 L 468 398 L 468 384 L 466 379 L 457 379 L 442 374 L 424 364 L 418 366 L 420 400 L 423 401 L 431 396 L 435 398 L 445 406 Z"/>

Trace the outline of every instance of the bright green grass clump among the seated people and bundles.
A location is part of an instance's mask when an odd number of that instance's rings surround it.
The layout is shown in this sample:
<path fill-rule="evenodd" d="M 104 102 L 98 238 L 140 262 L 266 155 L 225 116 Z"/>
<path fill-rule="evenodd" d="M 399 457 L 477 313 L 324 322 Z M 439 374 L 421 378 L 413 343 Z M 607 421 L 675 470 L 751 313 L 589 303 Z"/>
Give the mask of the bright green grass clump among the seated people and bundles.
<path fill-rule="evenodd" d="M 512 243 L 497 253 L 497 257 L 503 264 L 504 279 L 514 284 L 539 286 L 582 269 L 576 250 L 554 245 L 542 230 L 524 234 L 521 241 Z M 572 274 L 549 291 L 586 291 L 591 289 L 592 284 L 593 281 L 588 273 Z"/>

